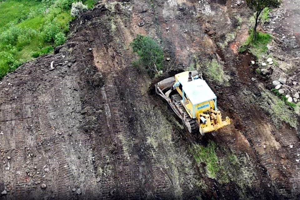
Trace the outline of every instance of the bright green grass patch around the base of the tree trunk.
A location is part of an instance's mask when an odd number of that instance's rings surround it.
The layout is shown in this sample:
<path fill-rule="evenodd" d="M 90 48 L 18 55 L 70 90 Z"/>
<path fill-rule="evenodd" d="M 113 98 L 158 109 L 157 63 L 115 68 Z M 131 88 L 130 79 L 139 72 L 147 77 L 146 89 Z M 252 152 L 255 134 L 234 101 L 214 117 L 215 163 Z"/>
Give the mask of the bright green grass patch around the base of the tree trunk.
<path fill-rule="evenodd" d="M 239 52 L 245 52 L 249 50 L 257 58 L 261 58 L 264 55 L 268 48 L 267 44 L 272 40 L 272 36 L 263 33 L 257 32 L 256 41 L 253 42 L 253 31 L 250 31 L 250 35 L 247 37 L 246 41 L 240 46 Z"/>

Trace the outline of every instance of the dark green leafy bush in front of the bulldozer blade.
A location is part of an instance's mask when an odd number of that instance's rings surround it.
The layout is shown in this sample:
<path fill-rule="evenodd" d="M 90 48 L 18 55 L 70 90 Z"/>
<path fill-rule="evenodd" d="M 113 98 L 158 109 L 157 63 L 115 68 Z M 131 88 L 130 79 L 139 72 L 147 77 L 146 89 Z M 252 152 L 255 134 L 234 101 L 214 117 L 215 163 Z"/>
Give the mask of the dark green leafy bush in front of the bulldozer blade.
<path fill-rule="evenodd" d="M 136 65 L 143 65 L 151 76 L 160 74 L 159 71 L 163 70 L 163 50 L 152 37 L 138 34 L 130 45 L 139 56 L 134 61 Z"/>

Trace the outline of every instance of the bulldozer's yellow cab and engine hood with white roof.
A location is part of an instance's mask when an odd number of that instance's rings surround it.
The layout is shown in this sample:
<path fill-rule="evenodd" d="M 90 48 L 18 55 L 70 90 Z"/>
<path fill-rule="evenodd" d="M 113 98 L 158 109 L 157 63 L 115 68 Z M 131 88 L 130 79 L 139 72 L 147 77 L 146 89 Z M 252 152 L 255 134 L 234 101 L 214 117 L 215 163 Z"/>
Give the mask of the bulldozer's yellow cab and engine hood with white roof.
<path fill-rule="evenodd" d="M 208 110 L 217 110 L 217 97 L 206 81 L 194 77 L 188 80 L 188 72 L 175 75 L 177 92 L 182 96 L 182 103 L 191 118 Z"/>

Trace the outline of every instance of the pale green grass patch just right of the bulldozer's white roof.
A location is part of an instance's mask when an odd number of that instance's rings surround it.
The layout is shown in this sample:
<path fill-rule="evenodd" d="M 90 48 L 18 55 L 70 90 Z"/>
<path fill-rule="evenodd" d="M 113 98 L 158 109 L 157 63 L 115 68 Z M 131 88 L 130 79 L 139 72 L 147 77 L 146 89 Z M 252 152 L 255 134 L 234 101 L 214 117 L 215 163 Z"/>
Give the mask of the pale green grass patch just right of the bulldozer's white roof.
<path fill-rule="evenodd" d="M 205 75 L 212 81 L 228 85 L 229 77 L 225 75 L 223 66 L 219 64 L 216 59 L 212 59 L 212 61 L 207 63 L 207 70 L 205 71 Z"/>

